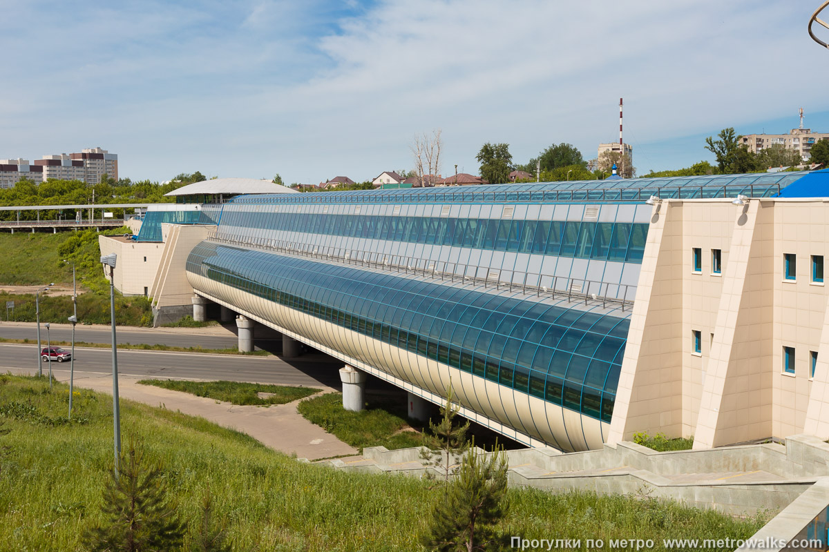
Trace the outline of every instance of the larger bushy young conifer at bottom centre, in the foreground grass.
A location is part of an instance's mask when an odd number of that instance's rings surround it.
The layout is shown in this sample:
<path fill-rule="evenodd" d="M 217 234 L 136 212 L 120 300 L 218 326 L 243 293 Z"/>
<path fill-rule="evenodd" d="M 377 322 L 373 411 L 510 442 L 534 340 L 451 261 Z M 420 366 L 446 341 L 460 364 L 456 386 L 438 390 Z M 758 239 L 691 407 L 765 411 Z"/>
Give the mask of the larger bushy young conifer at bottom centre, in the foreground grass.
<path fill-rule="evenodd" d="M 507 454 L 503 449 L 476 454 L 469 446 L 458 477 L 434 503 L 423 544 L 441 552 L 504 550 L 507 543 L 497 523 L 509 508 L 506 495 Z"/>

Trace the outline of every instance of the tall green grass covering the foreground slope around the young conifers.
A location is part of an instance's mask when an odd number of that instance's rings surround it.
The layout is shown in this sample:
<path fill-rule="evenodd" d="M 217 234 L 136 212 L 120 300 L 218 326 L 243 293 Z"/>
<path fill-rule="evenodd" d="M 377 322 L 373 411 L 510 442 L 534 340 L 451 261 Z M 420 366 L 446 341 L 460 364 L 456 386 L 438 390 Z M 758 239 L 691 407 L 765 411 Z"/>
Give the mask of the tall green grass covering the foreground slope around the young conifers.
<path fill-rule="evenodd" d="M 0 550 L 81 550 L 79 535 L 101 521 L 112 466 L 112 401 L 45 378 L 0 376 Z M 298 463 L 250 437 L 170 410 L 121 402 L 124 443 L 143 443 L 160 463 L 188 530 L 209 487 L 216 520 L 234 550 L 422 550 L 418 535 L 439 488 L 403 476 L 343 473 Z M 647 497 L 597 497 L 511 489 L 498 527 L 526 539 L 744 539 L 764 519 L 745 520 Z M 715 549 L 710 549 L 715 550 Z"/>

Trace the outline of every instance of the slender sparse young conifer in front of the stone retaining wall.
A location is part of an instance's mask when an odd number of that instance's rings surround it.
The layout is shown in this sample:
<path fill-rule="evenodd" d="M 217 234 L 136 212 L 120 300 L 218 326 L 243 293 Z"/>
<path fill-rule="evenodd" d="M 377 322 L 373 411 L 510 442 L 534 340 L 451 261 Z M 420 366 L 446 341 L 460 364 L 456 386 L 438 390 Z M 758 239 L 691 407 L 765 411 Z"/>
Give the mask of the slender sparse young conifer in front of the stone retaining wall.
<path fill-rule="evenodd" d="M 458 467 L 454 460 L 463 454 L 466 448 L 466 432 L 469 422 L 458 425 L 458 405 L 453 404 L 452 384 L 446 394 L 446 405 L 440 407 L 440 421 L 435 424 L 429 420 L 429 434 L 424 434 L 424 446 L 420 449 L 420 458 L 427 466 L 436 466 L 444 472 L 444 484 L 448 483 Z M 428 473 L 427 477 L 431 477 Z"/>

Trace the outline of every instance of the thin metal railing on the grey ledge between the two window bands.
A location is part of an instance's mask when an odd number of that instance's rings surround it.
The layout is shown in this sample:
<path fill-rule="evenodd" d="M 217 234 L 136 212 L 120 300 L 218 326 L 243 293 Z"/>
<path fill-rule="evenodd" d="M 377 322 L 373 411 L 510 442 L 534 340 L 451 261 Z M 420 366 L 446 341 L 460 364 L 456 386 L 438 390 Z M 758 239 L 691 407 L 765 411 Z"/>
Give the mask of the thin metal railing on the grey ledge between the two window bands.
<path fill-rule="evenodd" d="M 621 305 L 624 312 L 633 306 L 636 286 L 613 284 L 566 276 L 551 276 L 536 272 L 510 271 L 503 268 L 469 265 L 461 262 L 434 261 L 419 257 L 405 257 L 381 252 L 366 252 L 344 247 L 315 246 L 308 243 L 287 242 L 270 238 L 249 238 L 221 235 L 214 231 L 207 241 L 232 246 L 256 247 L 294 257 L 310 257 L 325 262 L 339 262 L 347 265 L 366 266 L 376 270 L 398 271 L 420 275 L 439 281 L 462 282 L 472 286 L 489 287 L 495 290 L 518 290 L 525 295 L 542 294 L 550 299 L 566 299 Z"/>

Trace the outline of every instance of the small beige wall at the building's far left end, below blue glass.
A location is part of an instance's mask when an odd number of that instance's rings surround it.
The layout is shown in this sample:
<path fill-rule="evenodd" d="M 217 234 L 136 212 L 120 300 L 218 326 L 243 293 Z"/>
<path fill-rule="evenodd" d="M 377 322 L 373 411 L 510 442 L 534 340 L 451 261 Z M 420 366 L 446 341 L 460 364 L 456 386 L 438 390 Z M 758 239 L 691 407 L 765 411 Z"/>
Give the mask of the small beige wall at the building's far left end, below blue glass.
<path fill-rule="evenodd" d="M 149 295 L 153 279 L 164 252 L 164 244 L 133 242 L 120 236 L 99 236 L 101 255 L 115 253 L 115 289 L 124 295 Z"/>

